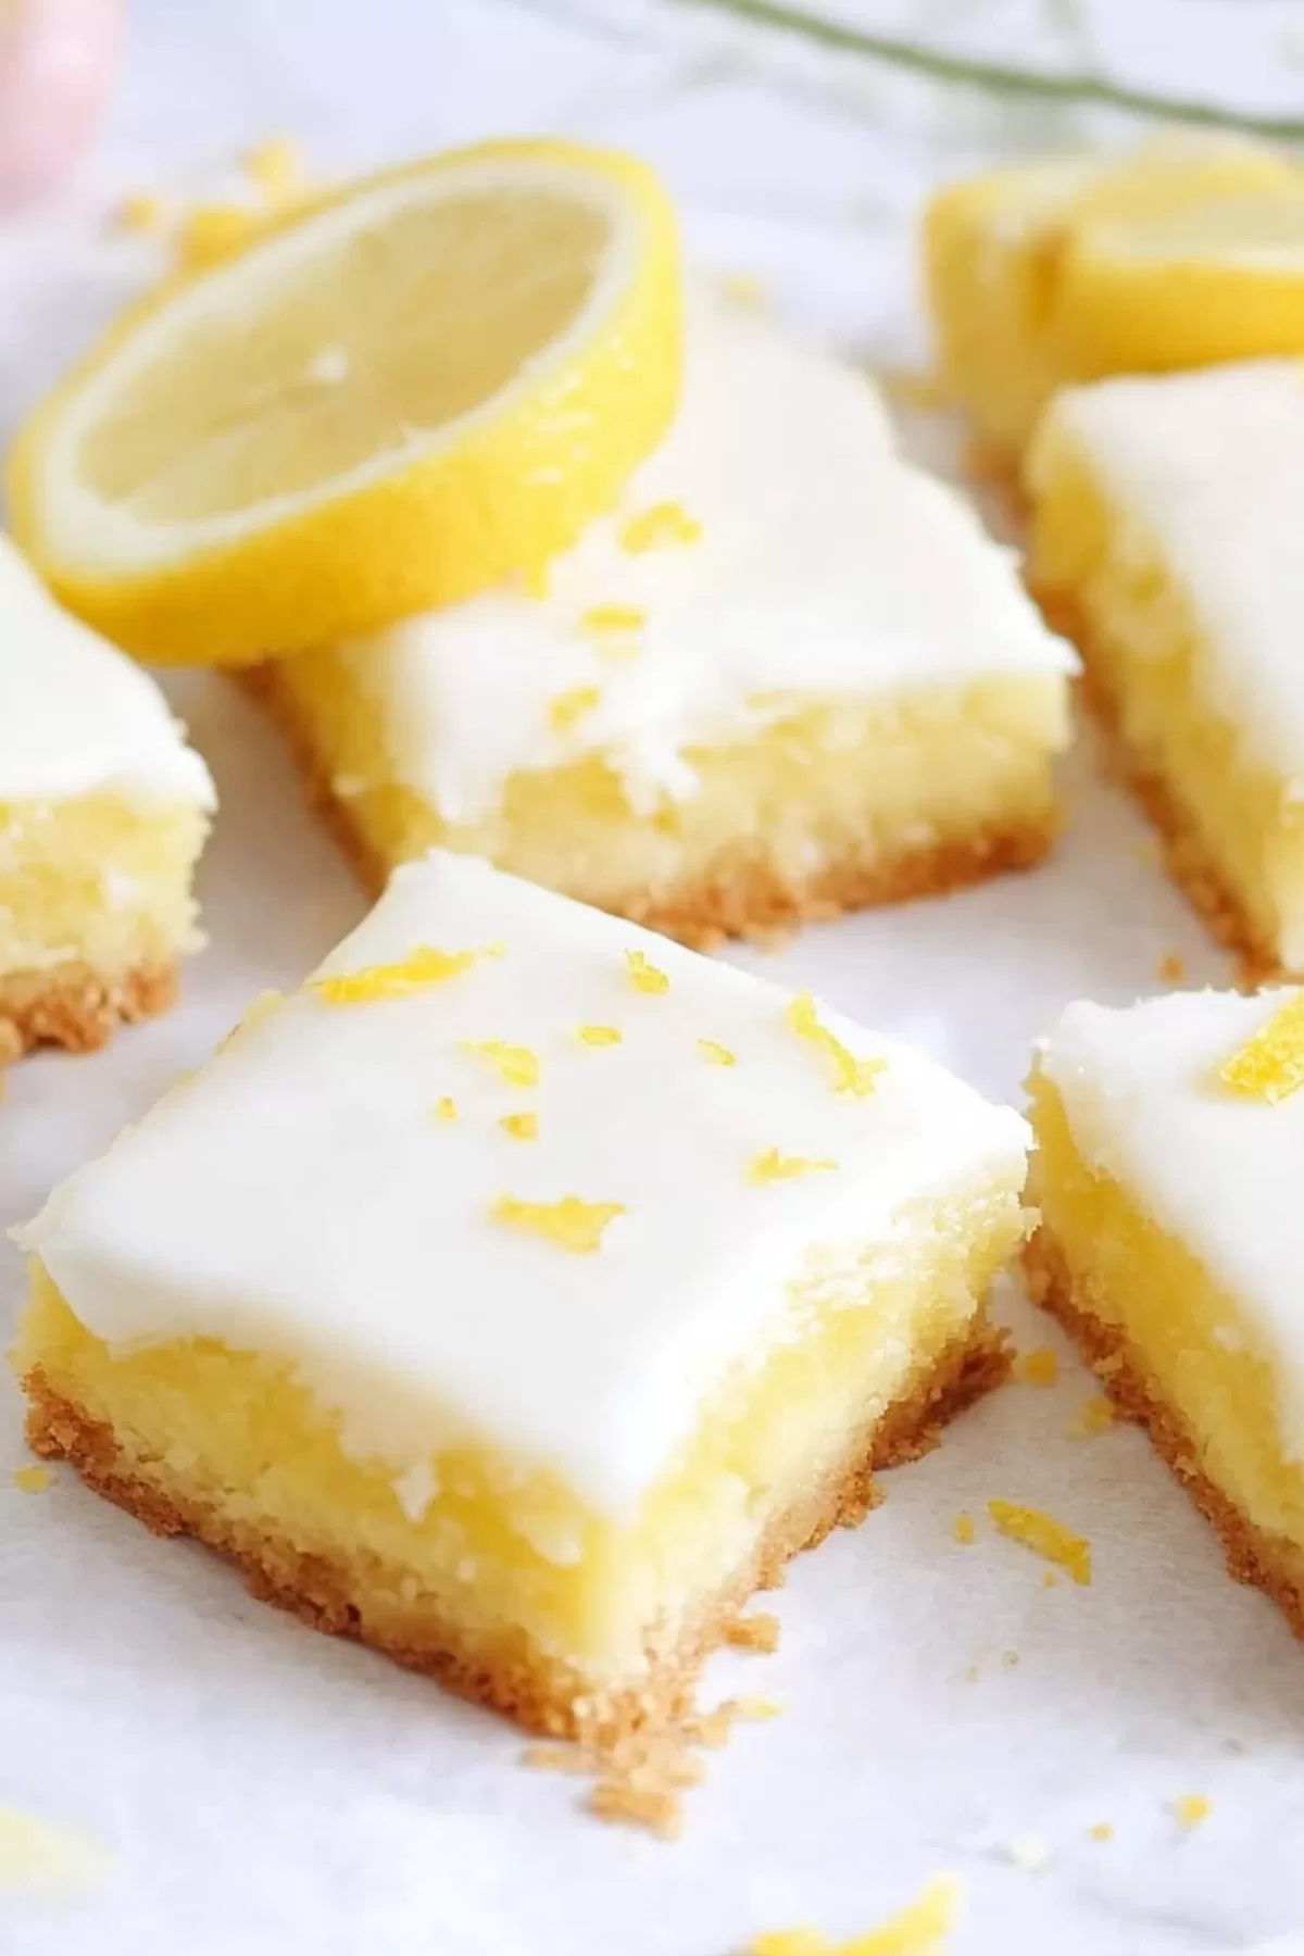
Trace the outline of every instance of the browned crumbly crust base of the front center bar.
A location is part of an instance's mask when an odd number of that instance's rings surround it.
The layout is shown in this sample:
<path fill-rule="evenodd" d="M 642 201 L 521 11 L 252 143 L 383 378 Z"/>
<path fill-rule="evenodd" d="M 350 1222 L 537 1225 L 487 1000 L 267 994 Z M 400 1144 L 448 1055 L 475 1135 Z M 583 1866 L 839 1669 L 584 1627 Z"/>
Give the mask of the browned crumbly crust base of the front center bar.
<path fill-rule="evenodd" d="M 649 1643 L 649 1670 L 637 1688 L 602 1702 L 587 1696 L 573 1672 L 543 1659 L 518 1635 L 504 1637 L 500 1649 L 487 1653 L 483 1641 L 469 1643 L 457 1625 L 434 1612 L 422 1618 L 420 1635 L 393 1639 L 375 1633 L 354 1602 L 354 1577 L 346 1565 L 305 1555 L 260 1526 L 233 1522 L 211 1502 L 162 1487 L 160 1479 L 125 1457 L 109 1426 L 55 1391 L 39 1369 L 23 1379 L 23 1391 L 31 1400 L 27 1440 L 37 1453 L 70 1461 L 88 1487 L 154 1534 L 197 1535 L 223 1551 L 240 1567 L 254 1596 L 289 1610 L 313 1629 L 369 1643 L 397 1663 L 438 1678 L 448 1690 L 508 1713 L 530 1731 L 610 1745 L 622 1733 L 657 1729 L 682 1717 L 702 1663 L 727 1641 L 747 1598 L 757 1588 L 780 1586 L 784 1563 L 798 1549 L 823 1541 L 839 1524 L 858 1524 L 878 1498 L 874 1475 L 925 1453 L 944 1422 L 999 1385 L 1007 1371 L 1005 1332 L 979 1312 L 970 1334 L 942 1354 L 923 1385 L 891 1406 L 870 1434 L 860 1434 L 843 1465 L 772 1524 L 751 1561 L 710 1600 L 688 1633 L 669 1649 Z"/>

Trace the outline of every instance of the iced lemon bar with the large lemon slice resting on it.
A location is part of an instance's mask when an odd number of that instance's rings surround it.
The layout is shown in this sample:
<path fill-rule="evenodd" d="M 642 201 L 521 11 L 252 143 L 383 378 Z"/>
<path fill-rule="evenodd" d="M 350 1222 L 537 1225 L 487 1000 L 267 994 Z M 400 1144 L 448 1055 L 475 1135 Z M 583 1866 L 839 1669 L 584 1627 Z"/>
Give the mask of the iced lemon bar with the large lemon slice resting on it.
<path fill-rule="evenodd" d="M 696 295 L 671 436 L 547 591 L 260 683 L 373 886 L 442 843 L 710 945 L 1040 857 L 1069 667 L 864 376 Z"/>

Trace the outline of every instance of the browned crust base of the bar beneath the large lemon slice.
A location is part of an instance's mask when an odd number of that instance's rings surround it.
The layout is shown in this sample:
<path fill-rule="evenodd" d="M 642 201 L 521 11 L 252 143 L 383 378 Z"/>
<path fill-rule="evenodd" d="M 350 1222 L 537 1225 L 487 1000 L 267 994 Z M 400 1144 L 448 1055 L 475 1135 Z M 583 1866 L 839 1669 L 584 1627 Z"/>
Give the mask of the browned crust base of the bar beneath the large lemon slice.
<path fill-rule="evenodd" d="M 362 884 L 379 896 L 393 865 L 362 833 L 348 800 L 332 790 L 270 667 L 242 667 L 231 677 L 272 716 L 293 753 L 309 806 L 326 823 Z M 1060 816 L 1048 798 L 1038 820 L 979 829 L 956 841 L 903 849 L 868 863 L 852 855 L 825 863 L 802 880 L 780 874 L 764 847 L 749 841 L 723 851 L 702 882 L 676 890 L 633 890 L 598 908 L 676 937 L 694 951 L 714 951 L 729 937 L 772 943 L 802 923 L 827 923 L 850 910 L 944 896 L 1005 870 L 1032 868 L 1058 829 Z"/>

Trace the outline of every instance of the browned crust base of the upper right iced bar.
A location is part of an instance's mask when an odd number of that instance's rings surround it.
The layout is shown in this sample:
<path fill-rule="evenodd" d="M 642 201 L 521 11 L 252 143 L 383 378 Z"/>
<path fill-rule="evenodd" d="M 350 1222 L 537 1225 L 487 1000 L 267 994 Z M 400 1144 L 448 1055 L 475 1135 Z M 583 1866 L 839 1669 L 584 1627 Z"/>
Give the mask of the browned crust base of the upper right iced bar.
<path fill-rule="evenodd" d="M 1191 908 L 1202 917 L 1210 937 L 1232 951 L 1239 978 L 1247 986 L 1271 978 L 1300 978 L 1286 972 L 1275 947 L 1261 935 L 1238 892 L 1226 882 L 1222 868 L 1208 853 L 1200 827 L 1175 796 L 1163 775 L 1146 767 L 1122 734 L 1122 712 L 1114 689 L 1103 675 L 1103 661 L 1093 657 L 1093 628 L 1081 604 L 1060 587 L 1028 577 L 1028 591 L 1040 604 L 1052 630 L 1071 638 L 1083 655 L 1079 690 L 1107 745 L 1108 773 L 1120 780 L 1153 827 L 1163 845 L 1163 865 Z"/>

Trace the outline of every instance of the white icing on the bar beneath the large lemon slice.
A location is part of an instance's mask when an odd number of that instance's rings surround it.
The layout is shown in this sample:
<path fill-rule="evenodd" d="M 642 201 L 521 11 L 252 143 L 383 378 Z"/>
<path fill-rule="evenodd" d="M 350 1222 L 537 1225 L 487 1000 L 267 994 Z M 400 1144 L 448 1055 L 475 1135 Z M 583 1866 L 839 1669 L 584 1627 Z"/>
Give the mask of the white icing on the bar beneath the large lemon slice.
<path fill-rule="evenodd" d="M 631 518 L 673 505 L 690 544 L 631 554 Z M 583 626 L 628 606 L 631 657 Z M 694 295 L 673 432 L 549 571 L 344 647 L 377 702 L 393 778 L 448 822 L 499 806 L 516 769 L 602 753 L 631 804 L 686 798 L 684 749 L 737 739 L 811 700 L 1065 673 L 1069 649 L 1013 554 L 942 483 L 891 454 L 870 381 L 768 321 Z M 567 728 L 553 704 L 596 690 Z M 342 790 L 344 792 L 344 790 Z"/>

